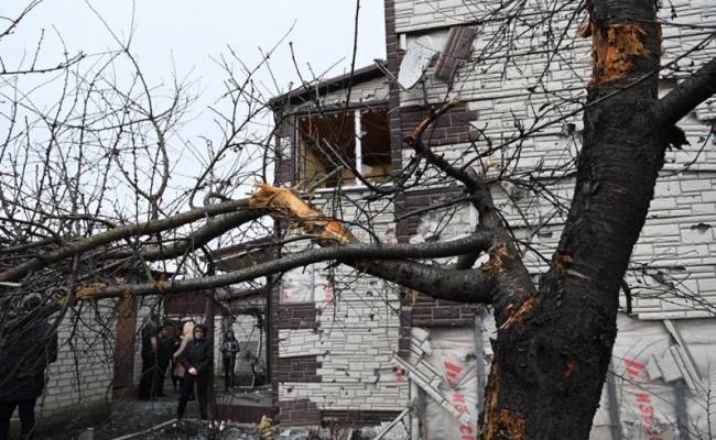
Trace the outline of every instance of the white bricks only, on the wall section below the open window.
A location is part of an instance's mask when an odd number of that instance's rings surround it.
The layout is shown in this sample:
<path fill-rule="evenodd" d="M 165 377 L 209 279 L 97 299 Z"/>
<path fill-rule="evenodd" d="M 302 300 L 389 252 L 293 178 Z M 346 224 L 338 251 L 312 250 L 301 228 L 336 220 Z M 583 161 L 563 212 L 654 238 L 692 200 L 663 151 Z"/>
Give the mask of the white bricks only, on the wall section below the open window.
<path fill-rule="evenodd" d="M 370 238 L 357 224 L 370 226 L 381 240 L 394 237 L 393 207 L 384 201 L 365 202 L 360 190 L 349 196 L 362 208 L 350 202 L 340 204 L 341 218 L 361 241 Z M 314 200 L 324 212 L 332 212 L 330 194 Z M 391 231 L 393 234 L 391 234 Z M 315 265 L 319 273 L 325 265 Z M 334 268 L 335 283 L 327 300 L 317 289 L 318 308 L 316 330 L 280 330 L 279 356 L 316 355 L 322 367 L 317 374 L 322 383 L 282 383 L 279 399 L 310 398 L 319 408 L 336 410 L 402 409 L 408 399 L 408 386 L 399 382 L 390 359 L 398 351 L 399 297 L 394 287 L 378 278 L 358 274 L 346 266 Z M 302 276 L 296 272 L 293 276 Z M 318 275 L 317 279 L 326 280 Z M 280 306 L 279 306 L 280 307 Z"/>

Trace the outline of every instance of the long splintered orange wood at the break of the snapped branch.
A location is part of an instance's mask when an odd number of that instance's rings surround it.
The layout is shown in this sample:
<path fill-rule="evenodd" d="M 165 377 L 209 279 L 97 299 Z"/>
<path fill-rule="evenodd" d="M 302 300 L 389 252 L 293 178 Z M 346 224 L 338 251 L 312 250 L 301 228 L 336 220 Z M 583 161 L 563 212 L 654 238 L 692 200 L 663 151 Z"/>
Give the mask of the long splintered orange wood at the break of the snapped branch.
<path fill-rule="evenodd" d="M 257 187 L 258 191 L 249 199 L 251 208 L 268 209 L 273 217 L 291 221 L 291 228 L 300 229 L 307 235 L 340 244 L 356 242 L 356 238 L 339 221 L 326 218 L 291 189 L 268 184 L 258 184 Z"/>

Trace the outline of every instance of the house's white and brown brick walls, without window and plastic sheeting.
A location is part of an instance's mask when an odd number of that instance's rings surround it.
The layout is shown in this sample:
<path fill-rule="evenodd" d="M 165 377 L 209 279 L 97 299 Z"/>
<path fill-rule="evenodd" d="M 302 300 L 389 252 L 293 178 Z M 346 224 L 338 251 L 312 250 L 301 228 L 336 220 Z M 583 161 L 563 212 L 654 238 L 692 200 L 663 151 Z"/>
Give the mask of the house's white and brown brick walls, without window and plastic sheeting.
<path fill-rule="evenodd" d="M 449 26 L 464 25 L 470 21 L 473 14 L 466 8 L 481 10 L 496 4 L 497 1 L 486 3 L 447 0 L 436 3 L 422 0 L 386 0 L 389 68 L 393 74 L 398 74 L 399 62 L 404 55 L 401 45 L 408 46 L 417 36 L 430 35 L 435 46 L 442 50 L 449 41 Z M 677 0 L 673 6 L 677 12 L 673 20 L 680 24 L 705 24 L 709 20 L 713 21 L 714 12 L 704 1 Z M 561 10 L 557 19 L 565 23 L 574 14 L 573 8 L 576 7 L 575 3 Z M 482 23 L 479 26 L 479 36 L 473 42 L 474 53 L 484 50 L 498 32 L 500 28 L 497 22 Z M 681 47 L 690 47 L 701 37 L 688 26 L 671 28 L 664 33 L 664 62 L 669 63 L 680 54 Z M 477 139 L 477 128 L 488 136 L 501 139 L 503 133 L 514 131 L 516 118 L 533 119 L 539 112 L 538 109 L 550 106 L 549 97 L 544 94 L 529 92 L 532 81 L 544 69 L 544 53 L 530 52 L 529 47 L 520 44 L 519 41 L 516 42 L 512 53 L 516 57 L 512 63 L 506 63 L 500 53 L 491 54 L 490 63 L 485 63 L 480 69 L 476 69 L 471 64 L 474 59 L 468 58 L 465 63 L 459 63 L 454 77 L 451 78 L 452 82 L 446 81 L 443 76 L 442 79 L 435 78 L 436 66 L 433 65 L 425 74 L 424 87 L 419 86 L 412 91 L 405 91 L 391 85 L 389 118 L 393 167 L 400 168 L 412 156 L 411 151 L 403 150 L 401 134 L 414 128 L 424 118 L 425 109 L 422 106 L 425 101 L 440 103 L 446 97 L 459 99 L 460 107 L 438 121 L 425 138 L 435 153 L 458 165 L 474 158 L 469 146 L 470 141 Z M 714 54 L 716 46 L 712 43 L 707 51 L 695 53 L 693 57 L 686 57 L 685 62 L 698 64 Z M 590 41 L 578 40 L 563 51 L 562 58 L 567 59 L 568 64 L 555 59 L 554 65 L 541 79 L 546 88 L 558 90 L 560 98 L 564 101 L 575 101 L 572 106 L 561 105 L 558 111 L 564 113 L 576 109 L 576 102 L 585 97 L 585 78 L 592 74 Z M 677 79 L 666 78 L 664 89 L 673 87 Z M 386 97 L 386 89 L 382 88 L 384 85 L 384 80 L 357 85 L 352 94 L 364 97 L 359 99 L 368 99 L 364 90 L 367 90 L 370 99 Z M 371 88 L 373 91 L 370 91 Z M 332 94 L 324 99 L 324 103 L 340 102 L 344 94 L 345 90 Z M 284 114 L 295 110 L 310 111 L 311 106 L 308 102 L 300 109 L 284 109 Z M 697 147 L 710 130 L 713 106 L 713 102 L 705 103 L 680 123 L 692 146 L 686 146 L 683 152 L 668 153 L 664 175 L 657 187 L 657 196 L 640 242 L 634 249 L 634 265 L 629 274 L 629 283 L 634 296 L 633 312 L 640 318 L 713 317 L 716 311 L 709 306 L 709 299 L 716 300 L 716 260 L 710 256 L 716 252 L 712 227 L 716 224 L 716 153 L 708 148 L 698 152 Z M 516 170 L 535 170 L 558 168 L 572 163 L 579 148 L 582 122 L 579 118 L 564 122 L 563 125 L 546 128 L 539 138 L 528 139 L 522 144 L 520 162 L 510 166 Z M 292 138 L 295 136 L 295 121 L 293 123 L 294 125 L 291 125 L 290 119 L 284 120 L 279 130 L 278 144 L 282 146 L 282 157 L 276 173 L 279 182 L 283 185 L 296 182 L 291 166 L 295 158 L 291 155 L 295 154 L 295 150 L 288 147 L 292 140 L 295 141 Z M 485 145 L 478 141 L 478 146 Z M 466 151 L 468 153 L 464 155 Z M 509 157 L 512 153 L 514 150 L 510 146 L 505 156 Z M 679 176 L 673 175 L 674 170 L 681 170 L 696 155 L 699 155 L 698 165 Z M 506 166 L 500 160 L 501 157 L 497 156 L 486 160 L 489 173 L 496 174 Z M 546 173 L 535 173 L 535 177 L 555 184 Z M 569 179 L 557 182 L 553 188 L 555 197 L 564 200 L 569 199 L 574 189 Z M 493 193 L 497 205 L 518 235 L 538 250 L 555 249 L 563 219 L 554 215 L 549 200 L 532 199 L 529 194 L 507 184 L 495 186 Z M 445 210 L 447 216 L 443 217 L 449 219 L 447 224 L 441 224 L 445 222 L 440 219 L 445 212 L 393 224 L 393 213 L 399 217 L 456 196 L 459 195 L 438 180 L 427 186 L 422 185 L 420 190 L 400 194 L 395 198 L 394 211 L 391 207 L 379 217 L 378 230 L 381 234 L 390 234 L 392 239 L 413 242 L 436 238 L 447 240 L 464 234 L 475 221 L 475 215 L 465 204 Z M 329 195 L 324 193 L 317 204 L 323 205 L 329 200 Z M 346 210 L 341 211 L 336 205 L 328 205 L 327 208 L 324 207 L 324 212 L 340 212 L 349 222 L 357 219 L 355 209 L 341 208 Z M 534 224 L 540 224 L 541 229 L 535 230 Z M 525 262 L 535 275 L 543 270 L 540 258 L 533 253 L 525 254 Z M 651 264 L 651 272 L 644 272 L 643 265 L 647 263 Z M 300 374 L 294 376 L 303 378 L 291 381 L 292 376 L 288 373 L 274 384 L 281 408 L 280 417 L 283 420 L 313 422 L 334 410 L 345 411 L 345 416 L 350 408 L 394 410 L 397 414 L 408 399 L 404 377 L 400 372 L 395 374 L 389 362 L 390 354 L 399 351 L 398 340 L 400 339 L 401 353 L 406 354 L 410 345 L 405 342 L 409 342 L 411 327 L 432 331 L 436 326 L 455 326 L 462 328 L 465 334 L 474 333 L 469 323 L 474 320 L 475 308 L 430 301 L 421 295 L 411 298 L 411 293 L 401 305 L 398 295 L 382 282 L 365 275 L 357 276 L 344 267 L 327 276 L 322 267 L 315 265 L 311 270 L 294 271 L 284 278 L 283 286 L 290 290 L 279 290 L 273 296 L 275 304 L 280 304 L 281 298 L 293 297 L 290 299 L 291 304 L 282 304 L 281 310 L 275 312 L 275 317 L 281 314 L 286 319 L 275 321 L 275 340 L 279 343 L 272 358 L 274 365 L 278 365 L 274 370 L 297 370 Z M 343 286 L 339 286 L 341 284 Z M 326 285 L 332 287 L 326 289 Z M 401 307 L 399 319 L 398 309 Z M 436 331 L 436 342 L 442 340 L 437 333 Z M 457 331 L 456 334 L 463 333 Z M 370 351 L 375 348 L 378 352 Z"/>

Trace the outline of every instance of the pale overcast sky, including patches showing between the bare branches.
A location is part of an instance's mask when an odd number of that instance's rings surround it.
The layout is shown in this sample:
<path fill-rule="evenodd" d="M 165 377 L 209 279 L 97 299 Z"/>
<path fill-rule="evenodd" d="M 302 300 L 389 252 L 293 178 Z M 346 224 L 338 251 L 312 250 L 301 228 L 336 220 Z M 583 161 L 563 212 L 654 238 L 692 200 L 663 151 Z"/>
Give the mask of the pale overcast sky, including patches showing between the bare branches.
<path fill-rule="evenodd" d="M 0 0 L 0 16 L 18 16 L 30 1 Z M 360 6 L 356 67 L 386 56 L 383 0 L 361 0 Z M 133 16 L 131 51 L 150 86 L 156 87 L 154 95 L 161 96 L 169 88 L 162 86 L 171 85 L 176 75 L 180 80 L 188 79 L 191 94 L 198 96 L 175 133 L 178 138 L 169 140 L 175 157 L 170 186 L 182 188 L 192 185 L 200 172 L 196 161 L 204 153 L 196 152 L 205 140 L 211 140 L 214 145 L 221 142 L 215 114 L 207 111 L 207 107 L 215 105 L 224 94 L 223 81 L 227 75 L 213 58 L 228 54 L 227 45 L 230 45 L 246 65 L 253 66 L 262 58 L 259 47 L 270 50 L 291 30 L 271 57 L 273 76 L 280 91 L 285 92 L 291 82 L 294 87 L 300 85 L 289 42 L 293 43 L 305 79 L 313 77 L 312 72 L 322 74 L 330 66 L 334 67 L 327 76 L 349 70 L 355 13 L 356 0 L 43 0 L 12 35 L 0 40 L 0 57 L 8 70 L 21 65 L 26 68 L 43 30 L 40 67 L 54 66 L 62 61 L 61 41 L 70 55 L 115 51 L 118 45 L 112 32 L 127 41 Z M 0 29 L 4 30 L 7 23 L 0 23 Z M 21 63 L 23 57 L 24 63 Z M 100 59 L 107 58 L 87 57 L 83 61 L 83 69 Z M 133 75 L 128 63 L 118 66 L 128 70 L 126 78 Z M 122 72 L 118 76 L 121 77 Z M 45 81 L 45 78 L 47 76 L 40 75 L 21 78 L 25 82 L 20 88 L 33 90 L 32 102 L 40 108 L 56 103 L 55 94 L 62 91 L 61 84 L 33 88 L 32 81 Z M 267 69 L 260 70 L 256 79 L 264 86 L 262 91 L 267 98 L 280 95 Z M 31 86 L 26 81 L 31 81 Z M 122 87 L 121 80 L 117 82 Z M 2 124 L 7 121 L 0 118 L 0 133 L 6 131 Z M 250 131 L 265 135 L 271 119 L 267 117 L 261 121 L 251 125 Z M 198 145 L 198 150 L 186 145 Z M 246 166 L 257 168 L 257 153 L 246 153 L 241 157 L 247 155 L 252 158 Z M 227 169 L 231 163 L 242 163 L 241 157 L 227 162 Z"/>

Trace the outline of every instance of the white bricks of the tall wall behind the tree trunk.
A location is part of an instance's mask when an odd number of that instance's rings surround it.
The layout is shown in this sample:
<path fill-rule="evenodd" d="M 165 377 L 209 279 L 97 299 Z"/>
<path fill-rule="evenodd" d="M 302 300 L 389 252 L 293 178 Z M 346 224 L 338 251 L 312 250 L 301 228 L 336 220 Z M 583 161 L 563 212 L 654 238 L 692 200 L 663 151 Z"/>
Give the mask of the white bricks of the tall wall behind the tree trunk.
<path fill-rule="evenodd" d="M 707 1 L 677 0 L 673 2 L 676 18 L 670 16 L 670 8 L 664 8 L 661 14 L 664 19 L 677 24 L 705 24 L 716 18 L 716 10 Z M 408 41 L 420 31 L 421 35 L 426 30 L 440 42 L 444 30 L 438 26 L 452 25 L 457 22 L 468 22 L 476 16 L 484 15 L 486 8 L 496 4 L 495 2 L 476 1 L 420 1 L 420 0 L 397 0 L 395 15 L 399 33 L 408 33 Z M 459 8 L 468 6 L 469 14 L 463 14 Z M 575 4 L 576 6 L 576 4 Z M 569 16 L 573 11 L 563 11 L 563 18 Z M 564 25 L 564 21 L 557 23 Z M 529 124 L 534 114 L 540 111 L 543 105 L 549 105 L 547 99 L 554 102 L 555 96 L 561 98 L 578 99 L 584 101 L 586 97 L 586 84 L 592 70 L 590 40 L 569 40 L 574 43 L 571 48 L 561 52 L 561 59 L 556 61 L 543 78 L 545 87 L 553 91 L 551 96 L 544 94 L 531 95 L 527 88 L 532 85 L 538 76 L 544 70 L 546 54 L 528 53 L 529 44 L 541 44 L 541 41 L 523 42 L 516 41 L 511 53 L 511 63 L 505 63 L 505 52 L 496 51 L 490 53 L 488 42 L 498 32 L 496 24 L 486 24 L 479 28 L 478 37 L 474 43 L 473 59 L 484 57 L 479 64 L 466 63 L 459 68 L 455 80 L 454 89 L 449 92 L 445 84 L 432 78 L 432 69 L 426 73 L 426 92 L 428 102 L 442 102 L 449 98 L 458 98 L 467 102 L 470 110 L 479 112 L 476 127 L 485 131 L 495 143 L 509 139 L 516 134 L 514 118 Z M 572 38 L 574 33 L 568 34 Z M 663 63 L 670 63 L 676 56 L 682 55 L 701 42 L 705 34 L 703 31 L 688 26 L 664 26 L 664 58 Z M 541 36 L 538 36 L 540 38 Z M 543 38 L 543 37 L 542 37 Z M 544 42 L 542 42 L 544 43 Z M 534 52 L 534 51 L 533 51 Z M 710 42 L 706 51 L 696 51 L 694 54 L 684 57 L 679 62 L 680 66 L 693 68 L 699 66 L 706 59 L 716 55 L 716 43 Z M 568 66 L 566 63 L 569 63 Z M 568 68 L 567 68 L 568 67 Z M 669 74 L 663 81 L 662 94 L 673 88 L 675 81 L 684 74 Z M 411 92 L 401 94 L 401 106 L 422 103 L 423 90 L 416 87 Z M 558 101 L 558 111 L 553 116 L 564 114 L 577 108 L 576 103 L 568 105 Z M 714 316 L 716 308 L 715 264 L 716 258 L 712 255 L 716 245 L 714 239 L 716 232 L 716 153 L 712 145 L 702 150 L 710 122 L 706 118 L 714 118 L 716 100 L 710 99 L 702 105 L 696 112 L 684 118 L 679 125 L 684 129 L 691 142 L 683 152 L 666 153 L 666 165 L 662 177 L 657 185 L 654 200 L 639 243 L 634 248 L 632 262 L 638 267 L 640 264 L 649 263 L 653 270 L 644 277 L 643 274 L 629 273 L 629 282 L 634 288 L 638 297 L 634 300 L 634 311 L 641 318 L 688 318 Z M 560 167 L 569 164 L 576 156 L 579 147 L 579 130 L 582 128 L 581 116 L 572 118 L 566 122 L 574 123 L 577 135 L 565 136 L 562 134 L 562 124 L 546 128 L 540 135 L 525 140 L 522 144 L 519 163 L 509 164 L 510 169 L 534 170 L 539 164 L 543 168 Z M 477 143 L 478 148 L 485 148 L 485 142 Z M 498 166 L 508 166 L 501 162 L 510 157 L 514 152 L 514 145 L 506 148 L 502 156 L 495 155 L 492 160 Z M 446 158 L 457 165 L 465 164 L 475 154 L 467 153 L 467 145 L 442 145 L 435 147 L 435 152 L 443 154 Z M 406 161 L 412 152 L 404 150 L 403 157 Z M 687 170 L 684 168 L 691 164 Z M 496 169 L 491 169 L 495 175 Z M 675 175 L 679 172 L 680 174 Z M 427 186 L 438 188 L 440 184 L 431 178 L 436 174 L 428 173 L 425 182 Z M 552 185 L 546 173 L 542 173 L 546 184 L 551 184 L 553 196 L 564 204 L 568 204 L 574 183 L 564 179 Z M 425 188 L 425 185 L 421 189 Z M 493 195 L 497 205 L 502 209 L 512 227 L 516 227 L 522 237 L 530 242 L 538 251 L 545 253 L 547 257 L 554 251 L 556 241 L 565 220 L 563 215 L 554 215 L 551 200 L 534 198 L 530 194 L 518 194 L 519 199 L 511 201 L 505 188 L 495 186 Z M 552 196 L 551 196 L 552 197 Z M 516 207 L 514 205 L 517 204 Z M 468 229 L 467 208 L 465 212 L 453 218 L 452 224 L 445 228 L 442 238 L 447 239 L 465 233 Z M 434 216 L 434 215 L 433 215 Z M 428 216 L 424 221 L 430 222 Z M 539 234 L 535 232 L 538 224 L 544 224 Z M 525 254 L 533 273 L 545 270 L 543 262 L 533 253 Z M 661 274 L 660 274 L 661 271 Z M 674 279 L 671 279 L 674 277 Z M 662 279 L 671 283 L 664 286 L 657 282 Z M 639 284 L 641 282 L 641 284 Z M 692 299 L 685 300 L 683 297 Z M 701 298 L 701 300 L 698 299 Z"/>

